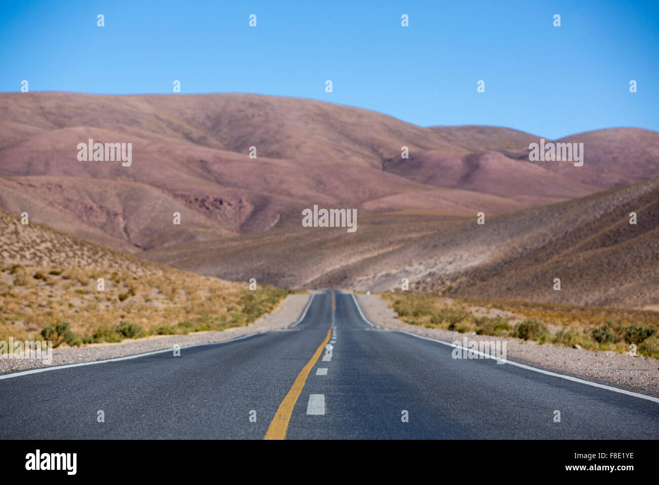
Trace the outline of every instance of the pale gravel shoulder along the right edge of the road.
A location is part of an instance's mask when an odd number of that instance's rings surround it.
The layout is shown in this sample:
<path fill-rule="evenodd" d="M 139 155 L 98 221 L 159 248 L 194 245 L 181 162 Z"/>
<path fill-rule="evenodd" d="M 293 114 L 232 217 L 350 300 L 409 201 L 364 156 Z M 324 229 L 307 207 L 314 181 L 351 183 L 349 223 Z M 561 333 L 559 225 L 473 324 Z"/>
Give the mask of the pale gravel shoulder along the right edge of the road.
<path fill-rule="evenodd" d="M 659 360 L 654 358 L 418 327 L 399 320 L 396 312 L 378 295 L 355 296 L 366 318 L 388 330 L 406 331 L 445 342 L 462 342 L 465 336 L 470 340 L 501 340 L 506 342 L 506 357 L 510 360 L 659 397 Z"/>

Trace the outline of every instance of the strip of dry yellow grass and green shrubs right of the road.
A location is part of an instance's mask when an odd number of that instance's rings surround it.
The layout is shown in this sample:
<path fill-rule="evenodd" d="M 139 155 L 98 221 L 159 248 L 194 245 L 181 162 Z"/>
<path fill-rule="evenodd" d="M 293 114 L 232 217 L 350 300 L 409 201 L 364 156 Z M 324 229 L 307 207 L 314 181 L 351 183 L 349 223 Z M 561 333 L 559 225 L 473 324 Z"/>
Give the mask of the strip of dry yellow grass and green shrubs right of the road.
<path fill-rule="evenodd" d="M 519 337 L 563 346 L 579 344 L 590 350 L 629 352 L 659 358 L 659 312 L 649 310 L 571 306 L 446 298 L 409 292 L 381 294 L 399 318 L 411 325 L 461 333 Z"/>

